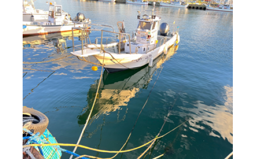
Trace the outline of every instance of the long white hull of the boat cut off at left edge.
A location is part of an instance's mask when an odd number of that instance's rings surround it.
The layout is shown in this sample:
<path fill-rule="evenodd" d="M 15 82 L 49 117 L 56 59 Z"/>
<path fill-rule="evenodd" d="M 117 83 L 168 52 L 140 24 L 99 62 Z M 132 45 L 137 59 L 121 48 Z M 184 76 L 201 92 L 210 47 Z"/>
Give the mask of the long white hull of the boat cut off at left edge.
<path fill-rule="evenodd" d="M 76 25 L 76 27 L 82 27 L 83 25 Z M 31 36 L 31 35 L 42 35 L 48 33 L 56 33 L 56 32 L 70 32 L 72 31 L 73 24 L 69 25 L 58 25 L 58 26 L 35 26 L 35 25 L 27 25 L 25 29 L 23 29 L 23 37 Z"/>

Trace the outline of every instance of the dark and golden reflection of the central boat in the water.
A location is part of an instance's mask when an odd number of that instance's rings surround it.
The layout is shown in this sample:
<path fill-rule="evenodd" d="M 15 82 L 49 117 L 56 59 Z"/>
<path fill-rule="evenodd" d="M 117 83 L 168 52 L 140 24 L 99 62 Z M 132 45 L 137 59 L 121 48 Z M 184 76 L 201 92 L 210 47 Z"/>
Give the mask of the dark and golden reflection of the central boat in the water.
<path fill-rule="evenodd" d="M 161 67 L 161 65 L 169 60 L 171 56 L 176 53 L 178 45 L 171 46 L 167 52 L 167 55 L 161 54 L 154 62 L 152 67 L 145 65 L 138 69 L 130 69 L 116 73 L 107 73 L 104 70 L 102 80 L 100 82 L 100 87 L 97 95 L 97 100 L 92 112 L 92 120 L 95 121 L 100 115 L 111 114 L 111 112 L 118 110 L 119 112 L 123 109 L 121 106 L 127 106 L 129 100 L 139 92 L 140 89 L 147 89 L 147 86 L 153 76 L 153 74 Z M 91 85 L 89 89 L 87 99 L 88 106 L 83 109 L 81 115 L 78 116 L 78 124 L 84 125 L 93 106 L 94 98 L 96 95 L 99 79 L 96 84 Z M 125 115 L 127 113 L 125 112 Z M 122 113 L 124 114 L 124 113 Z M 117 122 L 125 120 L 125 115 L 121 120 L 118 119 Z M 115 121 L 116 122 L 116 121 Z M 99 122 L 101 123 L 101 122 Z"/>

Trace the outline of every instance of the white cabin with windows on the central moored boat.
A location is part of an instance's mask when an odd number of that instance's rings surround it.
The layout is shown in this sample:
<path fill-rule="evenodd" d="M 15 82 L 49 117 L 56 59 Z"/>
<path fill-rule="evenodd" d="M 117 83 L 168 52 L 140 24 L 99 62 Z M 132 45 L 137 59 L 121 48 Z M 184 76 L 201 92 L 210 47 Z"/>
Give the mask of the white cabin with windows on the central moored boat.
<path fill-rule="evenodd" d="M 156 48 L 160 17 L 144 14 L 142 18 L 138 16 L 139 22 L 136 29 L 136 42 L 130 43 L 131 52 L 145 54 Z M 129 42 L 126 42 L 125 52 L 129 53 Z"/>

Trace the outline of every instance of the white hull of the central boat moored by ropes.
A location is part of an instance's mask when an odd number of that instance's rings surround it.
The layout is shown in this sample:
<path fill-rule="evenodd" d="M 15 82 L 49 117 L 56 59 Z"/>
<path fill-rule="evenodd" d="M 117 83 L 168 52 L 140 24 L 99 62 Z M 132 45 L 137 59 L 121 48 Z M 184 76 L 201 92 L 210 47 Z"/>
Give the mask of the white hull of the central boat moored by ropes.
<path fill-rule="evenodd" d="M 100 64 L 105 64 L 104 68 L 107 70 L 108 73 L 118 72 L 127 69 L 135 69 L 148 64 L 151 57 L 153 58 L 153 60 L 158 58 L 163 53 L 165 47 L 171 47 L 175 44 L 177 39 L 179 39 L 179 35 L 175 34 L 168 41 L 166 41 L 166 43 L 162 44 L 158 48 L 155 48 L 154 50 L 149 51 L 146 54 L 132 54 L 131 56 L 130 54 L 111 53 L 112 56 L 110 56 L 108 53 L 105 53 L 104 57 L 104 54 L 101 53 L 93 56 L 100 62 Z"/>

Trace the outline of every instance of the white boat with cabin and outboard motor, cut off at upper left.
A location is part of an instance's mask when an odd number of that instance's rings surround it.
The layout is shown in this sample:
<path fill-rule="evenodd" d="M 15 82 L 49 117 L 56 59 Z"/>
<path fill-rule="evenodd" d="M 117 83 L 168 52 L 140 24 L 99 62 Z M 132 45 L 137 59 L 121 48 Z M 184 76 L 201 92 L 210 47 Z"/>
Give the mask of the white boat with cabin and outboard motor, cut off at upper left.
<path fill-rule="evenodd" d="M 91 23 L 89 18 L 85 18 L 83 13 L 77 13 L 77 16 L 71 19 L 67 12 L 64 12 L 62 5 L 49 4 L 47 20 L 35 19 L 34 13 L 30 18 L 26 17 L 23 21 L 23 37 L 31 35 L 48 34 L 55 32 L 70 32 L 72 27 L 83 27 L 84 23 Z M 80 22 L 83 22 L 81 24 Z M 88 28 L 90 28 L 88 26 Z"/>

